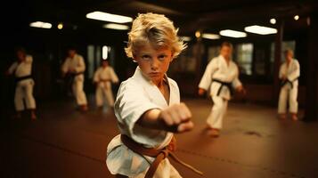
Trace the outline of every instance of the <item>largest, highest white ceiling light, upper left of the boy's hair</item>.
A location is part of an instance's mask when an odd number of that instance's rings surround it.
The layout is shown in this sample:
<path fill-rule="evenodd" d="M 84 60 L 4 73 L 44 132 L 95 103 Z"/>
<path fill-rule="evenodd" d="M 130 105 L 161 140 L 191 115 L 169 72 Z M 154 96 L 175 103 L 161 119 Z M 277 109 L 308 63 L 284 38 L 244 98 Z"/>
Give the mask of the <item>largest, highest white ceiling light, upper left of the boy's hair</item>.
<path fill-rule="evenodd" d="M 86 14 L 87 19 L 111 21 L 116 23 L 127 23 L 133 21 L 133 18 L 123 15 L 116 15 L 106 12 L 90 12 Z"/>

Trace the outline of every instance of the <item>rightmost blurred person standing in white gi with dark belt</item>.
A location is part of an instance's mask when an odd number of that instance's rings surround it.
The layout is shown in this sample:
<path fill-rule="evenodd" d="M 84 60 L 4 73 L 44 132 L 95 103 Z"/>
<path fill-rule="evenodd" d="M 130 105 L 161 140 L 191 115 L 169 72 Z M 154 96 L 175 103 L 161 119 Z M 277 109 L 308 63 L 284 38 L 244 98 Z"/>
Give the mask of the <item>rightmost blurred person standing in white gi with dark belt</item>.
<path fill-rule="evenodd" d="M 278 114 L 286 118 L 287 101 L 289 101 L 289 112 L 293 120 L 298 120 L 298 77 L 300 67 L 297 60 L 293 59 L 294 53 L 291 50 L 285 51 L 285 59 L 281 64 L 280 79 L 281 93 L 278 101 Z"/>

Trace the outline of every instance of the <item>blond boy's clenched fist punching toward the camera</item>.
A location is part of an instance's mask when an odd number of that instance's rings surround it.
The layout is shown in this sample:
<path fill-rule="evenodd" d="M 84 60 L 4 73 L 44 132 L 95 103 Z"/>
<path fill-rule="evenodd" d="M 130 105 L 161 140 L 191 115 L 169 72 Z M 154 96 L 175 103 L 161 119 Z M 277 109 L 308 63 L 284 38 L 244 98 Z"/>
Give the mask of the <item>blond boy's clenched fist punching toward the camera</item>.
<path fill-rule="evenodd" d="M 161 110 L 159 120 L 165 123 L 165 130 L 175 133 L 183 133 L 192 130 L 193 123 L 190 120 L 192 113 L 184 104 L 174 104 Z"/>

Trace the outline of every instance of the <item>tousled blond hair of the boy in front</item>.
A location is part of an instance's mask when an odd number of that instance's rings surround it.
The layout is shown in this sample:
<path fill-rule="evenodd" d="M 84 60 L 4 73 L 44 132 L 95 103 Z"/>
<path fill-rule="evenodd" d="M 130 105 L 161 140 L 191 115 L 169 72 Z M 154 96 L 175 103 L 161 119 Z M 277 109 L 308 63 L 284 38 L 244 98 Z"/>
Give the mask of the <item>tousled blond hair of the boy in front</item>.
<path fill-rule="evenodd" d="M 164 15 L 156 13 L 142 13 L 133 21 L 132 29 L 128 33 L 126 55 L 134 58 L 140 47 L 151 44 L 156 49 L 169 47 L 173 58 L 186 48 L 186 44 L 177 36 L 178 29 L 173 22 Z"/>

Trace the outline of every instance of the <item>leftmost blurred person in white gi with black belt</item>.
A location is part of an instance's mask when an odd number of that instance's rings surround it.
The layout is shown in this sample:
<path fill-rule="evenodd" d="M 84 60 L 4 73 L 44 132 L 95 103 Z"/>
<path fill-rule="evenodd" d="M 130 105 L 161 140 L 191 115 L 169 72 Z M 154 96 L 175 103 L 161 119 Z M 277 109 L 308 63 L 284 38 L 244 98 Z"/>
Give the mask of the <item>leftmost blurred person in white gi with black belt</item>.
<path fill-rule="evenodd" d="M 23 48 L 16 51 L 17 61 L 7 70 L 7 75 L 15 77 L 14 106 L 16 110 L 15 117 L 20 118 L 21 112 L 26 108 L 31 112 L 31 119 L 36 120 L 36 100 L 33 97 L 34 80 L 31 76 L 32 61 L 31 55 L 27 54 Z"/>

